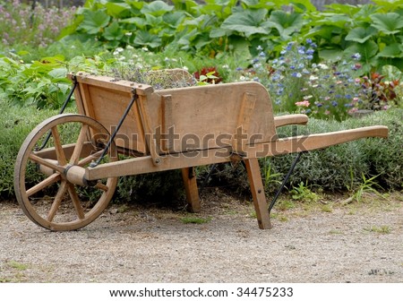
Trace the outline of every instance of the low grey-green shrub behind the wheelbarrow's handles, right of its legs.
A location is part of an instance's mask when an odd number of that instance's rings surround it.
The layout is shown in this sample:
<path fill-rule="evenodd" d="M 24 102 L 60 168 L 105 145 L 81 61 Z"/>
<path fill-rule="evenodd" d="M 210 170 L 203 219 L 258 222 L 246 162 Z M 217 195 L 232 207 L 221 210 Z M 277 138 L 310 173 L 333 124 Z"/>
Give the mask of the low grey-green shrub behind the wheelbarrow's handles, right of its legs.
<path fill-rule="evenodd" d="M 401 189 L 403 186 L 403 110 L 378 111 L 360 119 L 351 118 L 342 123 L 310 119 L 308 125 L 299 127 L 301 133 L 325 133 L 366 125 L 386 125 L 390 129 L 387 140 L 368 138 L 314 150 L 303 155 L 288 185 L 309 183 L 320 185 L 328 191 L 352 190 L 362 183 L 362 176 L 377 176 L 375 181 L 384 189 Z M 290 128 L 279 133 L 290 135 Z M 274 174 L 287 173 L 295 155 L 262 159 Z M 379 175 L 379 176 L 378 176 Z"/>

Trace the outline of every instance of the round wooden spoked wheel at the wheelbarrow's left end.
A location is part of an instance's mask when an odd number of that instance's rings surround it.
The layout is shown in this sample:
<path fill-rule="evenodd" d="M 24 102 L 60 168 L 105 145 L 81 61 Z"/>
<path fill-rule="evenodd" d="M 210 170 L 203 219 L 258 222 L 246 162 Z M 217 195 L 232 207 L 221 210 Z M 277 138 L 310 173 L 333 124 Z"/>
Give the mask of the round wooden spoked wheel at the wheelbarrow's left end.
<path fill-rule="evenodd" d="M 75 114 L 50 117 L 32 130 L 14 170 L 15 194 L 28 218 L 41 227 L 64 231 L 82 228 L 99 217 L 115 192 L 117 178 L 84 179 L 78 185 L 66 175 L 70 168 L 85 170 L 99 159 L 109 136 L 98 121 Z M 99 164 L 116 160 L 116 146 L 111 143 Z"/>

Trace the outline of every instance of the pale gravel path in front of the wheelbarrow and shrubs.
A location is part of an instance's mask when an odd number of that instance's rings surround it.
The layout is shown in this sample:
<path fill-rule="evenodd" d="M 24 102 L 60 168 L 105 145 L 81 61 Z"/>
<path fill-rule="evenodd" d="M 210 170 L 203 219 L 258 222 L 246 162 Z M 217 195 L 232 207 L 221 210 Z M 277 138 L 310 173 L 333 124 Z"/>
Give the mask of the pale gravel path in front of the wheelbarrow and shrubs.
<path fill-rule="evenodd" d="M 279 212 L 260 230 L 253 207 L 184 212 L 110 207 L 79 231 L 50 232 L 0 202 L 0 282 L 403 282 L 403 193 L 331 212 Z M 397 199 L 397 200 L 395 200 Z M 122 212 L 123 211 L 123 212 Z"/>

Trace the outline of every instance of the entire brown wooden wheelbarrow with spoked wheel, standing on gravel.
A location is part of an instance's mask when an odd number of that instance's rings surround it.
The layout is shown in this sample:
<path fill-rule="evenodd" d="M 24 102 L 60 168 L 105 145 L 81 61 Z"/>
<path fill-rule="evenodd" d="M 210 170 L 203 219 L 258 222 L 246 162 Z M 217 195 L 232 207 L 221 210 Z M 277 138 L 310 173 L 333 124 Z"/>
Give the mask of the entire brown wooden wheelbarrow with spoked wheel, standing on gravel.
<path fill-rule="evenodd" d="M 69 77 L 79 114 L 52 116 L 35 127 L 15 164 L 22 211 L 51 230 L 90 224 L 107 207 L 118 176 L 168 169 L 182 169 L 187 201 L 200 211 L 193 167 L 233 160 L 244 161 L 259 228 L 271 228 L 259 158 L 388 136 L 379 125 L 279 138 L 279 126 L 305 125 L 308 118 L 273 116 L 270 95 L 258 82 L 153 90 L 106 76 Z"/>

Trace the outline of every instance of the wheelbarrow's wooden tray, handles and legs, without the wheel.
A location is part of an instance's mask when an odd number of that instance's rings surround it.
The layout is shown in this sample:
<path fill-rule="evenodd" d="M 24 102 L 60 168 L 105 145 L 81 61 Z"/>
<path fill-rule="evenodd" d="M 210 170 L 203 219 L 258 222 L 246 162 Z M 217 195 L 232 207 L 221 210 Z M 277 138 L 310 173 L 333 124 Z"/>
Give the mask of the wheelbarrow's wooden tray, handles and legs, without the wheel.
<path fill-rule="evenodd" d="M 183 71 L 171 72 L 173 78 L 186 75 Z M 259 158 L 318 150 L 365 137 L 388 136 L 388 128 L 378 125 L 279 139 L 276 128 L 306 125 L 308 117 L 273 116 L 270 96 L 258 82 L 153 90 L 147 85 L 106 76 L 81 74 L 76 79 L 80 88 L 75 92 L 80 113 L 111 131 L 133 96 L 137 97 L 117 134 L 116 145 L 140 153 L 141 157 L 95 168 L 70 168 L 68 180 L 81 184 L 82 179 L 93 181 L 181 168 L 190 210 L 197 212 L 201 204 L 193 167 L 243 159 L 260 228 L 271 228 L 271 224 Z"/>

